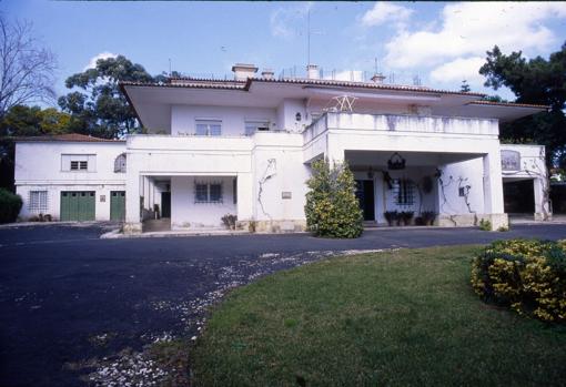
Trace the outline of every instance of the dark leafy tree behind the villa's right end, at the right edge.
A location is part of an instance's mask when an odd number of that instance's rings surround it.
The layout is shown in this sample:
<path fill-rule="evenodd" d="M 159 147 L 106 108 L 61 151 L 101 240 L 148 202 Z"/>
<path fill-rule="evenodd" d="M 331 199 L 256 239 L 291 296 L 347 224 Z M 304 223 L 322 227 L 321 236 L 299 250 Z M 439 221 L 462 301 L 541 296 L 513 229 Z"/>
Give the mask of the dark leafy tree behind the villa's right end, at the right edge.
<path fill-rule="evenodd" d="M 479 69 L 485 85 L 495 90 L 509 88 L 518 103 L 549 105 L 543 112 L 502 125 L 502 139 L 511 142 L 536 142 L 546 145 L 547 165 L 566 166 L 566 43 L 548 60 L 523 58 L 520 51 L 509 55 L 497 45 L 487 51 L 486 63 Z"/>

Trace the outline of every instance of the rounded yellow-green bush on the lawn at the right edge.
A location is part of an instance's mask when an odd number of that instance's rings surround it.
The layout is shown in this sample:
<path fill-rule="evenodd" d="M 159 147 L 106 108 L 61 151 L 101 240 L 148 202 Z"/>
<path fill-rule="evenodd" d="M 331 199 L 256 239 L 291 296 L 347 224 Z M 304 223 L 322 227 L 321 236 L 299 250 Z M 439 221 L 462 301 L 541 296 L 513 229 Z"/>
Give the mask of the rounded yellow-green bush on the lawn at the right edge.
<path fill-rule="evenodd" d="M 487 246 L 472 265 L 485 301 L 544 322 L 566 322 L 566 243 L 512 240 Z"/>

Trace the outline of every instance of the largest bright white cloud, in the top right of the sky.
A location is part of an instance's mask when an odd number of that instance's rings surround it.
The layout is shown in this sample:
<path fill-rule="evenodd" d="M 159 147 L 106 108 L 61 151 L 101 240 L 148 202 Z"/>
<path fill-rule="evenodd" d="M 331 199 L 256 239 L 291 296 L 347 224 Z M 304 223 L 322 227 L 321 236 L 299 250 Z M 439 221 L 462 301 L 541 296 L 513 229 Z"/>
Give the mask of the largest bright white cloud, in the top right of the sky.
<path fill-rule="evenodd" d="M 504 52 L 547 50 L 557 37 L 543 22 L 566 18 L 566 3 L 451 3 L 439 18 L 442 27 L 436 30 L 397 31 L 385 47 L 385 63 L 397 69 L 438 65 L 457 58 L 485 55 L 495 44 Z"/>

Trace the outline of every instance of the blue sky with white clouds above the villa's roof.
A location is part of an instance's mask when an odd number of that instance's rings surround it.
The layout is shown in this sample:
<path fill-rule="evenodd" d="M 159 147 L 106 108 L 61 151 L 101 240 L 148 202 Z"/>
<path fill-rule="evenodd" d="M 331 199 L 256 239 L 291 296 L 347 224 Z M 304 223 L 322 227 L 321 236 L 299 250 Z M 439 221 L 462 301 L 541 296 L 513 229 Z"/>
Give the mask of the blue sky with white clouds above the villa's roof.
<path fill-rule="evenodd" d="M 58 94 L 67 77 L 98 58 L 123 54 L 151 74 L 232 77 L 253 63 L 304 71 L 310 58 L 324 74 L 394 75 L 395 83 L 473 91 L 486 51 L 548 58 L 566 41 L 566 2 L 176 2 L 3 0 L 9 20 L 28 20 L 58 58 Z M 310 19 L 310 34 L 307 33 Z M 388 81 L 392 81 L 391 78 Z"/>

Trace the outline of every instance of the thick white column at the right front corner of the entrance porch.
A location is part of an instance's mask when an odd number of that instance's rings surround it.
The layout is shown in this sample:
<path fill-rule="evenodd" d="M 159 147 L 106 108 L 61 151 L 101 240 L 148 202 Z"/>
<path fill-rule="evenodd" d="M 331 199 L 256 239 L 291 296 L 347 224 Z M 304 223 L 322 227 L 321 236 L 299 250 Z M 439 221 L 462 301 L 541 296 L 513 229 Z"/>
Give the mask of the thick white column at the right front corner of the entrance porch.
<path fill-rule="evenodd" d="M 487 153 L 484 162 L 484 214 L 489 217 L 492 228 L 508 226 L 503 207 L 502 159 L 498 149 Z"/>

